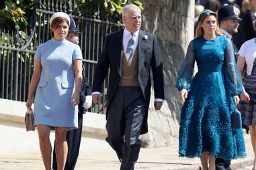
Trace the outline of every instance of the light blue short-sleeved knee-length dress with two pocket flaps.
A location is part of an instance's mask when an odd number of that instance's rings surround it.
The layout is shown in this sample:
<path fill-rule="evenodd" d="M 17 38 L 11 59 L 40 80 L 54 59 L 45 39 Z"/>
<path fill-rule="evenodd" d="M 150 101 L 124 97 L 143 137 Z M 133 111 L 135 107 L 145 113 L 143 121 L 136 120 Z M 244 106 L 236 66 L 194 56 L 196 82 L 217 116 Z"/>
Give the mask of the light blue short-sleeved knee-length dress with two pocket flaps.
<path fill-rule="evenodd" d="M 50 39 L 36 50 L 34 60 L 39 60 L 42 72 L 34 99 L 34 124 L 62 126 L 76 129 L 78 108 L 72 106 L 75 90 L 73 60 L 82 60 L 77 44 L 66 39 Z"/>

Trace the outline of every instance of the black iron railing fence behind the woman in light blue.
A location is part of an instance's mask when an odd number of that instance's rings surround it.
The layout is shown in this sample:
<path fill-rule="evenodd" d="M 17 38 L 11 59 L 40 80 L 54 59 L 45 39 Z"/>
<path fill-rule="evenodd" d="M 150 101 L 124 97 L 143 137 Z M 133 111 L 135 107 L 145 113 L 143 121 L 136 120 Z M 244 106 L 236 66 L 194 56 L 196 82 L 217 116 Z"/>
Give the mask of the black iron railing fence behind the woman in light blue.
<path fill-rule="evenodd" d="M 83 9 L 86 10 L 86 9 Z M 100 18 L 100 7 L 88 9 L 85 15 L 79 14 L 75 0 L 39 0 L 36 5 L 34 21 L 31 29 L 7 31 L 0 29 L 0 98 L 26 101 L 28 87 L 33 73 L 33 58 L 39 44 L 48 41 L 50 16 L 56 11 L 69 13 L 77 23 L 80 34 L 79 45 L 83 52 L 85 72 L 92 86 L 93 71 L 101 54 L 105 36 L 120 29 L 116 23 Z M 100 104 L 93 105 L 91 112 L 105 113 L 106 88 L 108 78 L 103 84 L 103 95 Z"/>

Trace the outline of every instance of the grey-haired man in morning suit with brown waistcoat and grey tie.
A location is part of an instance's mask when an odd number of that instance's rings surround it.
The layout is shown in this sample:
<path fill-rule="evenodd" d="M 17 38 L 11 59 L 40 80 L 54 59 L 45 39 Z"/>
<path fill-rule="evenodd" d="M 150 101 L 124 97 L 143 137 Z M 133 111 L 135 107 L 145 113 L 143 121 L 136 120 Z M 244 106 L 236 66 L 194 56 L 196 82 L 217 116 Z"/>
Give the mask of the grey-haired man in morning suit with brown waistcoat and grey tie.
<path fill-rule="evenodd" d="M 155 109 L 164 100 L 163 63 L 157 38 L 140 30 L 141 11 L 126 5 L 122 12 L 125 28 L 106 37 L 93 80 L 93 103 L 100 100 L 101 85 L 110 68 L 106 141 L 121 161 L 120 170 L 132 170 L 138 159 L 140 140 L 147 133 L 151 96 L 151 70 Z"/>

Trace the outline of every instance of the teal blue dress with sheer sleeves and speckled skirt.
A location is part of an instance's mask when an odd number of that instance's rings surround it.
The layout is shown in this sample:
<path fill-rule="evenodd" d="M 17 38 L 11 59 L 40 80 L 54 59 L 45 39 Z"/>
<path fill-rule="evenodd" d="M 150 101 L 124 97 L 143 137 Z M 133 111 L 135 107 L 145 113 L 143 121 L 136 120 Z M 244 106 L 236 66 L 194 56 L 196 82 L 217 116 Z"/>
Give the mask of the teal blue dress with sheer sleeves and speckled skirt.
<path fill-rule="evenodd" d="M 230 124 L 236 109 L 233 96 L 243 91 L 239 78 L 231 41 L 225 36 L 190 42 L 176 83 L 179 90 L 188 90 L 181 110 L 179 156 L 200 157 L 204 151 L 223 159 L 246 156 L 243 131 Z"/>

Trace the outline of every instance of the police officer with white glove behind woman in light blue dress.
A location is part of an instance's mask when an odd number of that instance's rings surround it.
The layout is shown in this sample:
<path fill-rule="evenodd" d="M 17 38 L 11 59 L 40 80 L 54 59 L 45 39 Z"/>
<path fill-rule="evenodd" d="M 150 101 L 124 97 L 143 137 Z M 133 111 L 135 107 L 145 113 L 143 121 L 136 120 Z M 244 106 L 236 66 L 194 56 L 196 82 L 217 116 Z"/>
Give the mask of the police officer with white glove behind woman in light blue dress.
<path fill-rule="evenodd" d="M 75 25 L 75 21 L 72 17 L 70 17 L 71 23 L 69 26 L 69 33 L 67 35 L 67 40 L 73 42 L 74 44 L 79 44 L 79 30 Z M 80 90 L 80 99 L 79 99 L 79 111 L 78 111 L 78 129 L 73 129 L 67 132 L 67 143 L 69 146 L 69 151 L 67 155 L 67 161 L 65 164 L 65 170 L 73 170 L 75 169 L 75 164 L 77 163 L 77 158 L 79 155 L 81 135 L 82 135 L 82 127 L 83 127 L 83 114 L 85 113 L 86 108 L 91 107 L 92 98 L 91 98 L 91 88 L 87 82 L 87 78 L 85 77 L 85 72 L 83 70 L 83 82 Z M 52 161 L 52 169 L 57 170 L 56 163 L 56 153 L 55 153 L 55 143 L 53 150 L 53 161 Z"/>

